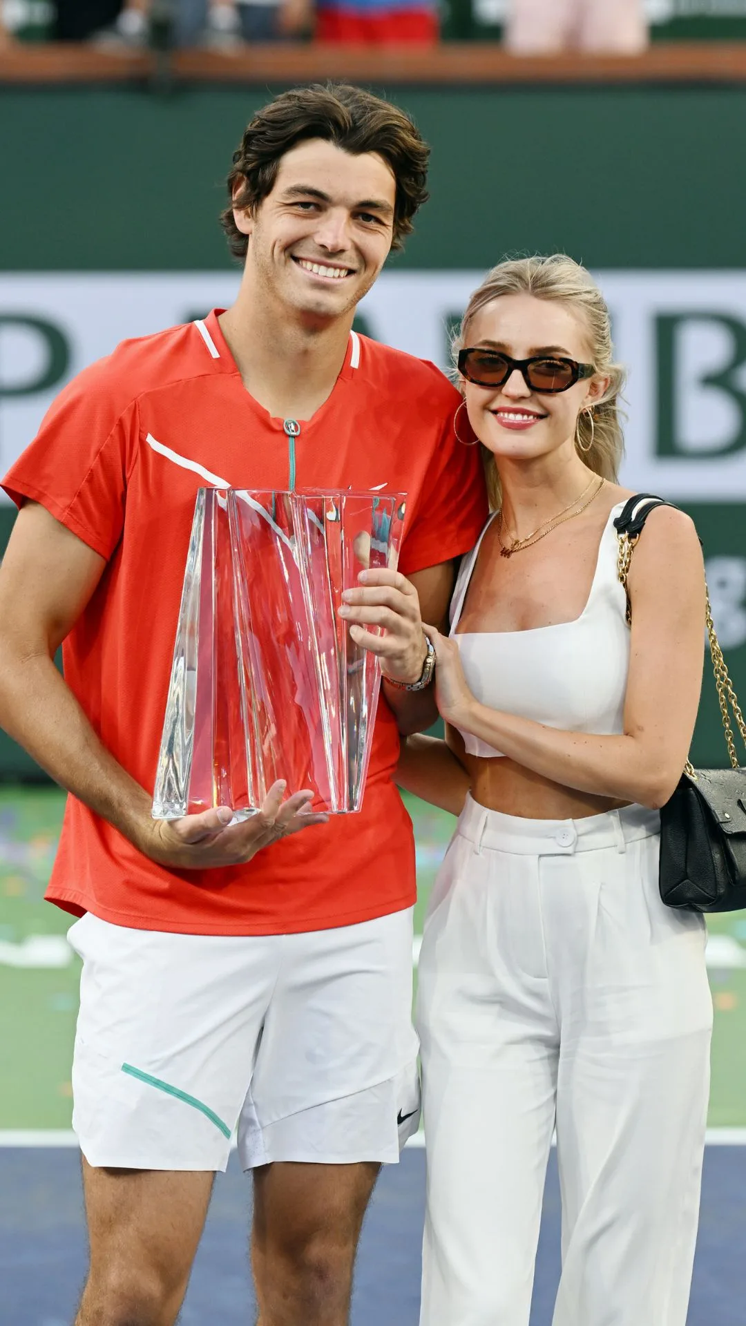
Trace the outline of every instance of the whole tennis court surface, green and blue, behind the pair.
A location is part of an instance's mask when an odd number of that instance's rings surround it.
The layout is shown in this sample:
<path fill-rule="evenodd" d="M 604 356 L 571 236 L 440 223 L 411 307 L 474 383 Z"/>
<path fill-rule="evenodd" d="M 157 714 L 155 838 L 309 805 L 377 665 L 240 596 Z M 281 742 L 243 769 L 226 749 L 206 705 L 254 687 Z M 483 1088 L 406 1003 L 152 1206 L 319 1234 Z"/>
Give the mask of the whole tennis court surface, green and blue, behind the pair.
<path fill-rule="evenodd" d="M 70 919 L 42 903 L 62 805 L 54 788 L 0 788 L 3 1326 L 69 1326 L 86 1260 L 80 1160 L 69 1132 L 78 961 L 65 941 Z M 411 798 L 408 808 L 417 838 L 419 932 L 453 819 Z M 417 965 L 417 941 L 413 959 Z M 689 1326 L 746 1326 L 746 919 L 739 914 L 714 919 L 708 965 L 715 1005 L 711 1140 Z M 360 1250 L 353 1326 L 417 1323 L 423 1159 L 421 1146 L 408 1147 L 401 1166 L 381 1175 Z M 250 1203 L 251 1184 L 234 1155 L 216 1180 L 182 1326 L 252 1319 Z M 552 1156 L 531 1326 L 550 1326 L 558 1274 Z"/>

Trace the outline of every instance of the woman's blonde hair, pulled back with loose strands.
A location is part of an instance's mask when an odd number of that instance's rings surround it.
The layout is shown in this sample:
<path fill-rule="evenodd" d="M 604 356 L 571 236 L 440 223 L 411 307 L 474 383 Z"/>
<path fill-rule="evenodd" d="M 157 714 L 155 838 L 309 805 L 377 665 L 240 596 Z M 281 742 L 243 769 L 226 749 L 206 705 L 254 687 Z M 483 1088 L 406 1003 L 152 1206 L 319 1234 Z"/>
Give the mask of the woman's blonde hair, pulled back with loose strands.
<path fill-rule="evenodd" d="M 592 415 L 581 411 L 576 446 L 589 469 L 616 481 L 624 452 L 619 399 L 627 374 L 621 365 L 613 363 L 611 318 L 605 300 L 591 273 L 575 259 L 567 253 L 550 253 L 547 257 L 536 255 L 498 263 L 469 301 L 453 343 L 454 363 L 461 347 L 469 343 L 467 332 L 473 317 L 502 294 L 523 293 L 565 304 L 584 321 L 593 366 L 600 377 L 609 378 L 609 385 L 604 395 L 593 402 Z M 496 511 L 502 500 L 498 467 L 492 452 L 482 444 L 481 450 L 490 507 Z"/>

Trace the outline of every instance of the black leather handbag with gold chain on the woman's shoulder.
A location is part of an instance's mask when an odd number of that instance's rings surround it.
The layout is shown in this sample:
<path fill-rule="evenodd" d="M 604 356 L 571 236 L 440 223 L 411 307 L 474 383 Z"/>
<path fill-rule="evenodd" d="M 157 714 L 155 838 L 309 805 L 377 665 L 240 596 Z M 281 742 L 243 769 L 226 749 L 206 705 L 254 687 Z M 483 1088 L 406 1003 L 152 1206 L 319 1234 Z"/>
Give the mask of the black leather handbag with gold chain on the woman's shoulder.
<path fill-rule="evenodd" d="M 670 504 L 662 497 L 637 493 L 615 520 L 619 578 L 625 590 L 632 550 L 645 518 L 656 507 L 665 505 Z M 705 602 L 730 769 L 693 769 L 686 764 L 673 797 L 661 808 L 660 891 L 668 907 L 737 911 L 746 907 L 746 769 L 738 764 L 730 711 L 745 744 L 746 723 L 715 635 L 706 585 Z M 627 621 L 631 622 L 629 597 Z"/>

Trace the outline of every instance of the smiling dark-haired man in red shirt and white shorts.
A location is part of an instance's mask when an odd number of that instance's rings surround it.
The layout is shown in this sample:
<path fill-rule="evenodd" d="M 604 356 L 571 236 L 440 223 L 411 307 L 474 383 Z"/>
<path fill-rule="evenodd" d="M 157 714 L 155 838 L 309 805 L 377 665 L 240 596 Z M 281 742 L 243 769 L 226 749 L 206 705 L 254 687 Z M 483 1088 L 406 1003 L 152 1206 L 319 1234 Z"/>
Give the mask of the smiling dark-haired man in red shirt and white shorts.
<path fill-rule="evenodd" d="M 369 93 L 277 97 L 228 178 L 223 224 L 244 259 L 234 306 L 86 369 L 4 481 L 20 513 L 0 570 L 0 721 L 72 793 L 48 896 L 82 914 L 73 1123 L 90 1274 L 77 1326 L 175 1321 L 236 1126 L 261 1326 L 342 1326 L 378 1166 L 417 1126 L 414 862 L 393 711 L 402 729 L 434 713 L 411 586 L 442 621 L 485 499 L 475 450 L 454 438 L 454 389 L 352 322 L 411 229 L 426 160 L 408 117 Z M 369 572 L 349 607 L 390 679 L 353 818 L 304 815 L 296 789 L 281 805 L 281 784 L 243 823 L 230 808 L 150 817 L 206 481 L 408 492 L 411 583 Z"/>

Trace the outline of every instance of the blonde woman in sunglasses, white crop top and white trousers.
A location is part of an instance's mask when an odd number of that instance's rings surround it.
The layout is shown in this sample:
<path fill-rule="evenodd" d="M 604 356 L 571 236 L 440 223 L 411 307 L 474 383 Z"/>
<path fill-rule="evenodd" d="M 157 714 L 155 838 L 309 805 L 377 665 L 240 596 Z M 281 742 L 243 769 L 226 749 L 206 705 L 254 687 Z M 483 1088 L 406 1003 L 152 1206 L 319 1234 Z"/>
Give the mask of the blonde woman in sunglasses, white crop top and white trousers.
<path fill-rule="evenodd" d="M 698 540 L 649 514 L 628 627 L 623 373 L 581 267 L 502 263 L 458 346 L 492 516 L 450 638 L 426 627 L 450 749 L 414 739 L 398 778 L 461 810 L 419 959 L 421 1323 L 527 1326 L 556 1126 L 554 1326 L 684 1326 L 711 1002 L 702 918 L 664 907 L 657 866 L 700 695 Z"/>

